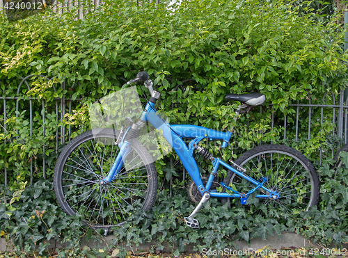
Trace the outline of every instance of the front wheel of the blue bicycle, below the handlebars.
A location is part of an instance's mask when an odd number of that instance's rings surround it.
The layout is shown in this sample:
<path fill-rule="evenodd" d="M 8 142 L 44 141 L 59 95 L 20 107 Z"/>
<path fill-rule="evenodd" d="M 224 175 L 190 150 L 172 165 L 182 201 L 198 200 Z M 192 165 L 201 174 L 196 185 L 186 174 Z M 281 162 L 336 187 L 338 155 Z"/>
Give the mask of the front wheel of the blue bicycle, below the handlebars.
<path fill-rule="evenodd" d="M 118 153 L 114 145 L 118 135 L 113 129 L 80 134 L 63 148 L 54 168 L 58 204 L 70 216 L 83 214 L 84 224 L 94 228 L 123 225 L 134 206 L 141 203 L 148 211 L 155 202 L 157 171 L 138 140 L 132 141 L 132 150 L 115 179 L 100 185 Z"/>

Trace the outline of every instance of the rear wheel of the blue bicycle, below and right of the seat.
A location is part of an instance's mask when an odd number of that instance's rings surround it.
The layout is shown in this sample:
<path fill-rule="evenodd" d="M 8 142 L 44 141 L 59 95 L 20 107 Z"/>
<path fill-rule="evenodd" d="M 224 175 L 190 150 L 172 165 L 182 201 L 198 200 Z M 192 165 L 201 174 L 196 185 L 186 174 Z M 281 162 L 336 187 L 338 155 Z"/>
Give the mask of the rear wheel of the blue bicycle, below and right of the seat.
<path fill-rule="evenodd" d="M 246 175 L 259 180 L 267 177 L 264 186 L 277 191 L 280 197 L 276 200 L 264 198 L 265 204 L 277 205 L 285 213 L 294 210 L 308 211 L 319 199 L 319 179 L 315 168 L 301 152 L 285 145 L 261 145 L 242 154 L 235 161 L 246 169 Z M 226 185 L 234 185 L 239 193 L 247 193 L 254 184 L 242 179 L 228 170 L 223 181 Z M 255 193 L 268 194 L 259 188 Z"/>

